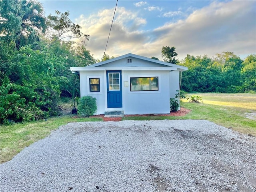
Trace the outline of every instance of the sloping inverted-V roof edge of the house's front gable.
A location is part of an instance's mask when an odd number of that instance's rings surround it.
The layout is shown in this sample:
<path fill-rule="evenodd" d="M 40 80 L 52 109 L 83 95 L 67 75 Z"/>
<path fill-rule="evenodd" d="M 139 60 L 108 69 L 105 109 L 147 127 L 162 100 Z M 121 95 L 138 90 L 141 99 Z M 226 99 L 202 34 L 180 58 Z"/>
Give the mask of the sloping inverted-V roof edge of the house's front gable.
<path fill-rule="evenodd" d="M 122 56 L 119 56 L 119 57 L 116 57 L 116 58 L 113 58 L 113 59 L 109 59 L 109 60 L 106 60 L 106 61 L 98 62 L 96 64 L 92 64 L 92 65 L 89 65 L 89 66 L 86 66 L 86 67 L 98 67 L 98 66 L 101 66 L 101 65 L 104 65 L 104 64 L 116 61 L 116 60 L 120 60 L 120 59 L 123 59 L 123 58 L 128 58 L 128 57 L 138 58 L 138 59 L 154 62 L 154 63 L 157 63 L 157 64 L 162 64 L 162 65 L 165 65 L 165 66 L 176 67 L 176 68 L 179 68 L 179 69 L 182 69 L 182 70 L 188 70 L 188 68 L 184 67 L 184 66 L 180 66 L 180 65 L 176 65 L 176 64 L 172 64 L 172 63 L 168 63 L 168 62 L 163 62 L 163 61 L 159 61 L 159 60 L 155 60 L 155 59 L 150 59 L 150 58 L 140 56 L 140 55 L 135 55 L 135 54 L 132 54 L 132 53 L 128 53 L 128 54 L 125 54 L 125 55 L 122 55 Z"/>

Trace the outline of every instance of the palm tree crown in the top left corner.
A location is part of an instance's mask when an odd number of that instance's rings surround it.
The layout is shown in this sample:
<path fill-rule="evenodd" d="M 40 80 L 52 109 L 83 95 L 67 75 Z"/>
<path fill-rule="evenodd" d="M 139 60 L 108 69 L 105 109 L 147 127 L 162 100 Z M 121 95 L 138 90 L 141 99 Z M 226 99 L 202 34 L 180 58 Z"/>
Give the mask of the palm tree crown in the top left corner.
<path fill-rule="evenodd" d="M 0 19 L 4 40 L 14 41 L 18 49 L 38 41 L 47 28 L 44 8 L 38 1 L 2 0 Z"/>

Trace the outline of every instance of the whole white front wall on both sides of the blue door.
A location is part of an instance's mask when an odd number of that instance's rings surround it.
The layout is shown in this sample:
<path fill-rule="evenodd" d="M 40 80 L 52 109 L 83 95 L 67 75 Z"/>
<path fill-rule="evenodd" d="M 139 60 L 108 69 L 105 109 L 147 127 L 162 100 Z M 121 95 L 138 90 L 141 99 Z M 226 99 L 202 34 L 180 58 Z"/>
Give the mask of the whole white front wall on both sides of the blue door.
<path fill-rule="evenodd" d="M 130 77 L 158 77 L 158 91 L 130 91 Z M 89 78 L 100 78 L 100 92 L 91 93 Z M 106 71 L 80 71 L 81 96 L 90 95 L 97 100 L 96 114 L 123 110 L 124 114 L 167 114 L 170 113 L 168 71 L 124 71 L 122 70 L 122 108 L 107 108 Z"/>

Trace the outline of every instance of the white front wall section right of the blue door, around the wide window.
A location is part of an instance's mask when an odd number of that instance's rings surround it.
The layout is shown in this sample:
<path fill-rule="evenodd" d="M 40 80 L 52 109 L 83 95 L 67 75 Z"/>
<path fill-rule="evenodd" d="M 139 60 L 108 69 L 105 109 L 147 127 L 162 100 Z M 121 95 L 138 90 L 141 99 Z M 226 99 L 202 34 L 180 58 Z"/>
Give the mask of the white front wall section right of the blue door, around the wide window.
<path fill-rule="evenodd" d="M 123 83 L 124 114 L 168 114 L 169 106 L 169 74 L 168 71 L 124 71 Z M 130 92 L 130 77 L 158 76 L 158 91 Z"/>

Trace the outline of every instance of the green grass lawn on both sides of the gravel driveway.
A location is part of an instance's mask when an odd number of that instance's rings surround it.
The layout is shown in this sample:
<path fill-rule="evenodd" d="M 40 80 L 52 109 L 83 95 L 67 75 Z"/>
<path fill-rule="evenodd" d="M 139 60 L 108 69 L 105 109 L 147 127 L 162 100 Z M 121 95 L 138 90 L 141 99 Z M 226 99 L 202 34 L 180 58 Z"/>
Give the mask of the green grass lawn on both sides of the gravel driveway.
<path fill-rule="evenodd" d="M 256 113 L 256 94 L 191 95 L 201 96 L 204 103 L 191 103 L 183 100 L 182 106 L 191 110 L 186 116 L 133 116 L 124 117 L 122 120 L 204 119 L 244 134 L 256 136 L 256 120 L 245 117 Z M 254 118 L 256 118 L 255 114 Z M 1 126 L 0 163 L 11 160 L 23 148 L 48 136 L 59 126 L 68 122 L 84 121 L 102 121 L 102 118 L 72 118 L 68 115 L 49 118 L 47 121 Z"/>

